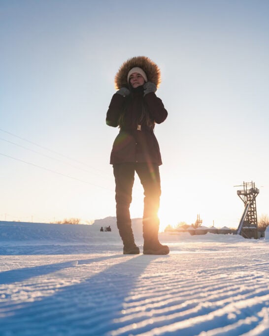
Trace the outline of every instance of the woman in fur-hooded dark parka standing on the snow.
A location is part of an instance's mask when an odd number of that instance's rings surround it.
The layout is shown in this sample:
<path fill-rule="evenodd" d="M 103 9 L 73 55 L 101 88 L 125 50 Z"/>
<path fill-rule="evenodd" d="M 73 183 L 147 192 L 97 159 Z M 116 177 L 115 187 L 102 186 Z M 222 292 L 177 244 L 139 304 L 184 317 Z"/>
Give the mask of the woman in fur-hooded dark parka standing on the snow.
<path fill-rule="evenodd" d="M 120 127 L 110 164 L 116 183 L 117 227 L 123 241 L 124 254 L 138 254 L 134 243 L 130 204 L 134 173 L 144 188 L 143 253 L 168 254 L 167 245 L 158 239 L 158 210 L 161 196 L 159 165 L 162 164 L 155 123 L 164 122 L 167 110 L 155 94 L 161 82 L 160 69 L 149 58 L 133 57 L 124 62 L 115 76 L 118 90 L 111 99 L 106 124 Z"/>

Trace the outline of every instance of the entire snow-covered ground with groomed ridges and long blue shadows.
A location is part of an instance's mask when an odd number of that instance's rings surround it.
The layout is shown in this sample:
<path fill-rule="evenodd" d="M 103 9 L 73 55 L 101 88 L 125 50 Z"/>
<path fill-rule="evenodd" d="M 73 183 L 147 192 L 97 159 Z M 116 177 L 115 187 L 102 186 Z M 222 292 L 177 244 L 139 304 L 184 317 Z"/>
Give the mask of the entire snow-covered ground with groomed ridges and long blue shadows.
<path fill-rule="evenodd" d="M 267 232 L 159 236 L 169 255 L 123 255 L 112 217 L 0 222 L 0 335 L 269 335 Z"/>

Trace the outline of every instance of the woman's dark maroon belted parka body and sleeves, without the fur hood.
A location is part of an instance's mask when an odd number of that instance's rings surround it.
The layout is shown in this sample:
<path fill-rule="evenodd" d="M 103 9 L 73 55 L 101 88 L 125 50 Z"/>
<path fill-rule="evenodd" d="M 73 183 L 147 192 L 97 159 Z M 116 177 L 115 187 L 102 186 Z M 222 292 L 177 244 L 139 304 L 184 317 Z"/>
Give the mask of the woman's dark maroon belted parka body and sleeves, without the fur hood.
<path fill-rule="evenodd" d="M 143 89 L 137 89 L 139 88 Z M 155 93 L 150 92 L 143 97 L 143 91 L 133 91 L 133 99 L 115 93 L 107 111 L 106 123 L 113 127 L 119 125 L 120 115 L 123 111 L 125 113 L 124 125 L 121 126 L 113 144 L 110 163 L 152 162 L 161 165 L 160 148 L 153 127 L 146 124 L 145 118 L 139 121 L 141 101 L 144 100 L 151 119 L 156 123 L 164 122 L 168 113 L 162 100 L 156 97 Z M 129 101 L 125 109 L 126 100 Z"/>

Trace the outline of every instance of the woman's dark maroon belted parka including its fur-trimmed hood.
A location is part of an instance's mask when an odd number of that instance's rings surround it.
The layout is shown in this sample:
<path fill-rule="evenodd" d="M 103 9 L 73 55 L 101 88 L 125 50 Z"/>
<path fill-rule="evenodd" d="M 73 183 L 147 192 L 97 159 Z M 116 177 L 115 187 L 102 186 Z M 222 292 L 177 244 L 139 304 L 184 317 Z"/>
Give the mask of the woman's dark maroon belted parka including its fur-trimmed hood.
<path fill-rule="evenodd" d="M 160 84 L 160 70 L 156 64 L 145 57 L 136 57 L 125 62 L 115 77 L 116 88 L 128 87 L 127 74 L 134 66 L 141 67 L 147 74 L 148 81 Z M 110 156 L 111 164 L 124 162 L 151 162 L 162 164 L 158 141 L 154 134 L 154 124 L 164 122 L 168 112 L 160 98 L 154 92 L 144 96 L 143 87 L 131 89 L 131 94 L 122 96 L 115 93 L 112 96 L 106 123 L 109 126 L 120 125 L 120 132 L 116 137 Z M 145 116 L 146 109 L 150 124 Z M 123 122 L 120 122 L 122 118 Z"/>

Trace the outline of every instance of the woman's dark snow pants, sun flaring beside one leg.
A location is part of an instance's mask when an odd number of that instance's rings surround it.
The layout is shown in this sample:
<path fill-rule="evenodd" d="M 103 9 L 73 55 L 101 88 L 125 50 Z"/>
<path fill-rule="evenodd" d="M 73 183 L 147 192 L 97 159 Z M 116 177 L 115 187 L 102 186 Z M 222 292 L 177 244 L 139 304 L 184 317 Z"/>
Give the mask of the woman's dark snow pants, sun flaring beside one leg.
<path fill-rule="evenodd" d="M 130 204 L 134 173 L 136 172 L 144 188 L 143 237 L 144 240 L 158 237 L 161 182 L 158 164 L 120 163 L 113 165 L 116 183 L 117 227 L 124 244 L 134 242 L 131 227 Z M 157 238 L 158 239 L 158 238 Z"/>

